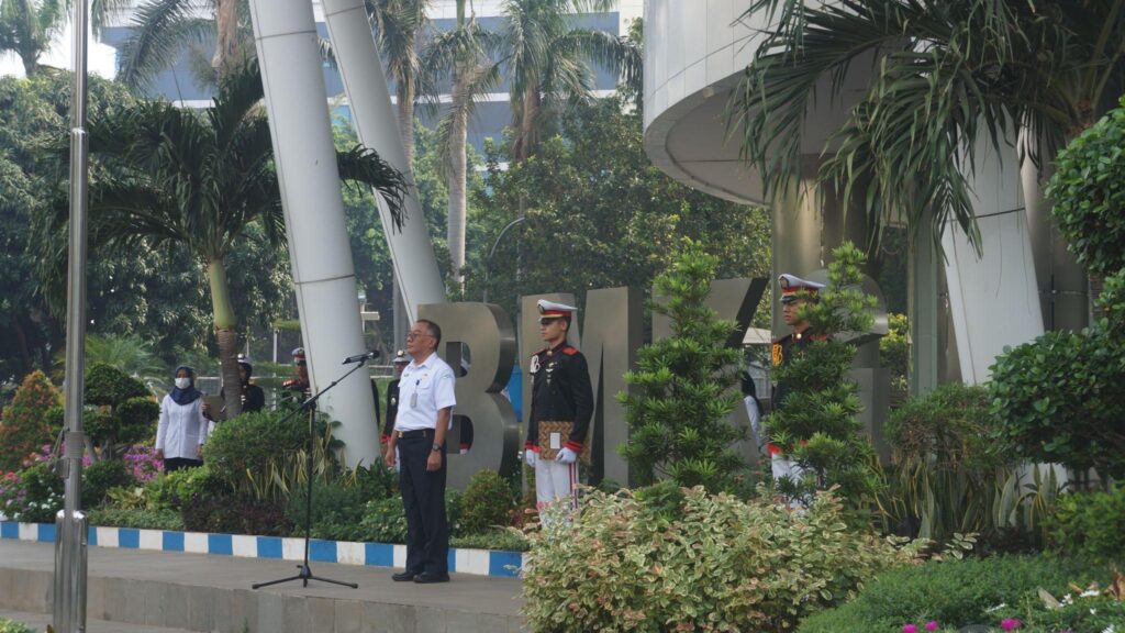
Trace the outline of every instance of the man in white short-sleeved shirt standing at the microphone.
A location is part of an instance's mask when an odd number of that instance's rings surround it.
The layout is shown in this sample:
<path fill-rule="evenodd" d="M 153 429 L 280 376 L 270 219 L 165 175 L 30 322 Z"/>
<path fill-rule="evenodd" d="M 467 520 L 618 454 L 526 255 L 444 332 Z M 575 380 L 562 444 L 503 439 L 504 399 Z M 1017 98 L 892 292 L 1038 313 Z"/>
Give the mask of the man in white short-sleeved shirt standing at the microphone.
<path fill-rule="evenodd" d="M 449 581 L 449 524 L 446 520 L 446 434 L 452 420 L 453 369 L 438 357 L 441 328 L 420 319 L 406 335 L 414 359 L 398 382 L 398 412 L 384 461 L 395 465 L 406 512 L 406 571 L 396 581 Z"/>

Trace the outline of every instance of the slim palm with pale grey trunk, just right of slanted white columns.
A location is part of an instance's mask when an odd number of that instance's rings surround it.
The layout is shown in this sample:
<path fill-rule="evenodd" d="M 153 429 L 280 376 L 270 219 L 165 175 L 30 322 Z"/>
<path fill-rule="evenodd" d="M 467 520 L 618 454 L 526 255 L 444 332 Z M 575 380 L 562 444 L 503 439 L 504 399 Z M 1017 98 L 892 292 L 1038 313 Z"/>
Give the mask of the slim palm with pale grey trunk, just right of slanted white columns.
<path fill-rule="evenodd" d="M 498 68 L 490 63 L 488 56 L 497 43 L 494 34 L 480 27 L 476 16 L 466 19 L 465 0 L 458 0 L 457 28 L 434 37 L 426 47 L 423 61 L 431 106 L 435 105 L 440 90 L 434 87 L 440 84 L 440 79 L 452 79 L 452 99 L 439 126 L 439 142 L 446 157 L 444 176 L 449 189 L 447 243 L 457 289 L 462 289 L 465 283 L 461 269 L 465 267 L 469 117 L 477 99 L 500 83 Z"/>

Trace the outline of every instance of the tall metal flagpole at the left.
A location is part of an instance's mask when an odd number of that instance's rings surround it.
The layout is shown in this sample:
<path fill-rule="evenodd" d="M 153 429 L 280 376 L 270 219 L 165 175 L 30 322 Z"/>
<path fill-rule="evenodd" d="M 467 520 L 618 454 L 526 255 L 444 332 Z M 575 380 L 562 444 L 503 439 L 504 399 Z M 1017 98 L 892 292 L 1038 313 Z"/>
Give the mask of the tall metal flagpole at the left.
<path fill-rule="evenodd" d="M 65 452 L 63 509 L 55 519 L 54 630 L 86 631 L 87 518 L 79 509 L 82 492 L 82 394 L 86 347 L 86 234 L 89 139 L 86 131 L 88 0 L 74 3 L 71 81 L 70 260 L 66 282 Z"/>

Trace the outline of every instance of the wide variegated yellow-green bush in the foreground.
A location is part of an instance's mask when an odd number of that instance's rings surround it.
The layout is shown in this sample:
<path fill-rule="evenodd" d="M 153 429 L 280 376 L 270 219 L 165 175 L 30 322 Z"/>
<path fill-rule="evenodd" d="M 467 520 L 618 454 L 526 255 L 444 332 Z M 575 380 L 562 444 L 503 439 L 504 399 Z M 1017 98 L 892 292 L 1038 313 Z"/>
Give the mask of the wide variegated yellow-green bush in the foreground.
<path fill-rule="evenodd" d="M 684 491 L 678 512 L 659 498 L 591 491 L 573 524 L 556 508 L 528 532 L 532 630 L 782 631 L 916 555 L 917 545 L 849 531 L 830 492 L 801 512 L 702 488 Z"/>

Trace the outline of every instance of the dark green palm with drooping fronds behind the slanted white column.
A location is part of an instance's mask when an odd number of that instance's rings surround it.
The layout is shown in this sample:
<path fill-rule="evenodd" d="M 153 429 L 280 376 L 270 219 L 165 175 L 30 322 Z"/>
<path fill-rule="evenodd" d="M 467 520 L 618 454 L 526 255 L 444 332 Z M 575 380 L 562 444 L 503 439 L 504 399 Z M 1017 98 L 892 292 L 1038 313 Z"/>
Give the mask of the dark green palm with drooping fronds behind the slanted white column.
<path fill-rule="evenodd" d="M 238 335 L 225 259 L 260 224 L 284 242 L 284 220 L 256 63 L 234 70 L 205 112 L 163 101 L 126 107 L 90 125 L 98 178 L 90 196 L 90 243 L 118 248 L 178 244 L 199 258 L 210 285 L 224 384 L 238 384 Z M 400 220 L 402 176 L 374 151 L 338 154 L 345 180 L 375 187 Z M 237 390 L 226 390 L 237 416 Z"/>

